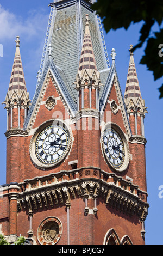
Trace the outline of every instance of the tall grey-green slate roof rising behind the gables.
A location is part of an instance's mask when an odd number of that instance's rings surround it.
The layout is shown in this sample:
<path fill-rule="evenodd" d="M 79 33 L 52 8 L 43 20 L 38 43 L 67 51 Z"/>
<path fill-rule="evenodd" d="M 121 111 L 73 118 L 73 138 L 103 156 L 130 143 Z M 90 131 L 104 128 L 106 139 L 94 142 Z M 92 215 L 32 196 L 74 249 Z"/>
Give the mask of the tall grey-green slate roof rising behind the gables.
<path fill-rule="evenodd" d="M 106 56 L 108 56 L 108 54 L 106 53 L 106 50 L 104 51 L 101 23 L 99 23 L 99 19 L 97 19 L 95 12 L 91 10 L 91 3 L 85 2 L 84 0 L 64 0 L 54 1 L 54 3 L 51 3 L 51 6 L 51 14 L 49 17 L 43 52 L 45 57 L 42 58 L 44 64 L 40 79 L 37 82 L 32 106 L 30 107 L 27 119 L 25 120 L 24 129 L 26 129 L 30 116 L 32 115 L 32 109 L 34 109 L 36 97 L 39 95 L 40 88 L 43 84 L 43 77 L 45 77 L 45 71 L 47 70 L 47 63 L 49 62 L 48 44 L 51 44 L 52 46 L 51 63 L 54 63 L 57 77 L 60 77 L 59 83 L 61 83 L 65 89 L 66 95 L 70 97 L 70 99 L 66 100 L 70 102 L 71 105 L 74 105 L 73 109 L 76 109 L 77 90 L 73 83 L 76 81 L 76 75 L 79 68 L 86 14 L 89 15 L 90 35 L 96 66 L 101 74 L 101 82 L 104 86 L 110 72 L 110 66 L 106 62 Z M 102 87 L 99 93 L 100 97 L 103 93 L 103 89 L 104 87 Z"/>

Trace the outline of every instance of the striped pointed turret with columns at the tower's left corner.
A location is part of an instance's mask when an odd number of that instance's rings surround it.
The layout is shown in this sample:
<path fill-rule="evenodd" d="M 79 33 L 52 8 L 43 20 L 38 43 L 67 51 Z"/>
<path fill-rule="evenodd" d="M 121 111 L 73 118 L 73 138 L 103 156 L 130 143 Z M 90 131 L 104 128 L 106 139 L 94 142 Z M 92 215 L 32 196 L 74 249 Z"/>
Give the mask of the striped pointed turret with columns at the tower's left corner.
<path fill-rule="evenodd" d="M 5 108 L 7 109 L 7 130 L 11 128 L 23 128 L 24 119 L 29 109 L 29 93 L 27 92 L 24 78 L 21 54 L 20 39 L 16 37 L 16 52 L 12 66 L 9 89 L 5 97 Z"/>

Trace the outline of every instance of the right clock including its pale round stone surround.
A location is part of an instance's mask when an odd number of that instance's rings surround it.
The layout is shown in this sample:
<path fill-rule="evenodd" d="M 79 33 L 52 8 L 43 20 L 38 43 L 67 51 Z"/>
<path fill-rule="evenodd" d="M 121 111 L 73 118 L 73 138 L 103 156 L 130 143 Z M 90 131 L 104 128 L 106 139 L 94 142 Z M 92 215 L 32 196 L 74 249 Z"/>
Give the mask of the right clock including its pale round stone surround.
<path fill-rule="evenodd" d="M 102 135 L 102 145 L 106 160 L 113 169 L 122 171 L 127 168 L 129 148 L 125 136 L 120 136 L 120 133 L 110 126 L 106 127 Z"/>

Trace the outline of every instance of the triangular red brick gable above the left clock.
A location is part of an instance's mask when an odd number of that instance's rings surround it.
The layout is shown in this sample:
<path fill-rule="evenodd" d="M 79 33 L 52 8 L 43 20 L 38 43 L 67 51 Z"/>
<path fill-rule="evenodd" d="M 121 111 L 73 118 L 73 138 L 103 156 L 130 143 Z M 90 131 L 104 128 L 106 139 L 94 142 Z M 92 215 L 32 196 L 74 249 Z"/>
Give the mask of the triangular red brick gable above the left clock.
<path fill-rule="evenodd" d="M 54 106 L 48 108 L 48 101 L 52 100 Z M 46 71 L 36 88 L 32 106 L 29 109 L 24 128 L 29 132 L 32 127 L 38 127 L 43 121 L 56 118 L 54 114 L 59 111 L 62 118 L 73 117 L 76 113 L 76 104 L 68 92 L 64 82 L 52 62 L 48 62 Z M 34 124 L 35 123 L 35 124 Z"/>

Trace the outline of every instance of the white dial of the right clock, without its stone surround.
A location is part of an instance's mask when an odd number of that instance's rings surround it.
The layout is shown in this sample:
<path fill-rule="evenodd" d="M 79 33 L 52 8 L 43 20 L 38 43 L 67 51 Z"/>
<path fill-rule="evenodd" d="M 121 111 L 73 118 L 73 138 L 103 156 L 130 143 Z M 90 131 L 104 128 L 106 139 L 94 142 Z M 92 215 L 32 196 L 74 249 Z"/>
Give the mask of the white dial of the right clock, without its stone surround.
<path fill-rule="evenodd" d="M 120 168 L 124 162 L 125 151 L 120 135 L 112 128 L 107 128 L 103 135 L 105 156 L 111 166 Z"/>

